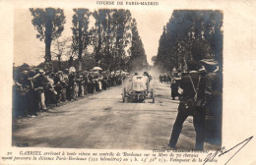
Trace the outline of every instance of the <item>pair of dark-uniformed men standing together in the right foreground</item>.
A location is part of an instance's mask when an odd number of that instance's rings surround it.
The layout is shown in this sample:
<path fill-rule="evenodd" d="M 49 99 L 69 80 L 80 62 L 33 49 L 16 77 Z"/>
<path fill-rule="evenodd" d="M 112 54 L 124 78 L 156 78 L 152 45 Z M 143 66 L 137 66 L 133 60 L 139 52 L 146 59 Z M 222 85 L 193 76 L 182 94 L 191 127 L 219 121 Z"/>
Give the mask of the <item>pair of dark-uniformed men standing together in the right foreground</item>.
<path fill-rule="evenodd" d="M 193 116 L 195 148 L 203 150 L 206 137 L 222 137 L 222 73 L 213 59 L 188 61 L 187 68 L 179 83 L 182 92 L 168 145 L 176 147 L 184 121 Z"/>

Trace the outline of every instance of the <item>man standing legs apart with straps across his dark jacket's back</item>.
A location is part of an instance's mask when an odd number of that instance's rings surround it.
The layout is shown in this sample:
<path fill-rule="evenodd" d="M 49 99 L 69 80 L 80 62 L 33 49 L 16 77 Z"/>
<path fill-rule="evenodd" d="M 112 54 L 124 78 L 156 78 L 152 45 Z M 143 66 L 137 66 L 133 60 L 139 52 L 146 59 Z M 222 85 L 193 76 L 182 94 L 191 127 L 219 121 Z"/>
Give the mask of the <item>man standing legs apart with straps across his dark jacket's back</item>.
<path fill-rule="evenodd" d="M 196 131 L 196 149 L 202 150 L 205 138 L 205 116 L 206 112 L 202 107 L 204 103 L 204 88 L 205 79 L 199 74 L 199 64 L 196 61 L 187 62 L 187 76 L 181 78 L 180 88 L 183 89 L 183 94 L 178 106 L 178 114 L 173 125 L 171 137 L 168 145 L 172 148 L 176 147 L 177 140 L 182 130 L 182 125 L 188 116 L 193 116 L 193 124 Z M 193 82 L 193 83 L 192 83 Z M 195 92 L 196 91 L 196 92 Z M 196 99 L 196 106 L 191 106 L 189 103 Z"/>

